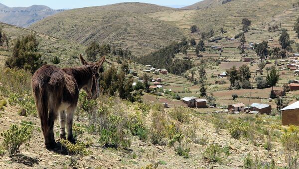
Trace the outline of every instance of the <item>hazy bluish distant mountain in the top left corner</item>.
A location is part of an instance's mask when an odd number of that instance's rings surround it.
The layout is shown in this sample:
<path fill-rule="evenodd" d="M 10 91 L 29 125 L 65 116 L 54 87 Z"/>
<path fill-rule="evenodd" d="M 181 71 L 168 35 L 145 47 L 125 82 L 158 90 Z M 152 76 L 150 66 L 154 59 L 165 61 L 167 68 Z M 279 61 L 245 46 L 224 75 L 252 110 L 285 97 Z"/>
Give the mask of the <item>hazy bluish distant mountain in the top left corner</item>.
<path fill-rule="evenodd" d="M 45 5 L 8 7 L 0 3 L 0 21 L 20 27 L 28 27 L 36 21 L 61 11 L 63 9 L 54 10 Z"/>

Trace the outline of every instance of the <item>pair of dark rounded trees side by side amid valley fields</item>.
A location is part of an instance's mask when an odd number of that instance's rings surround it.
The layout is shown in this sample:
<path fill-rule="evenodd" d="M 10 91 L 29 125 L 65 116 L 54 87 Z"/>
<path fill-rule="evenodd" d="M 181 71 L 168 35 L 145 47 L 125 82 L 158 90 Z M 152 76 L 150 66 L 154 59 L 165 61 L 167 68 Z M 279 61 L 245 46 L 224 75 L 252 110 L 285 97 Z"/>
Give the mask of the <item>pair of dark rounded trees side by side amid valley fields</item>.
<path fill-rule="evenodd" d="M 251 83 L 249 82 L 251 74 L 247 65 L 242 65 L 239 70 L 233 66 L 231 69 L 227 70 L 227 74 L 229 76 L 231 87 L 235 89 L 248 89 L 251 87 Z"/>

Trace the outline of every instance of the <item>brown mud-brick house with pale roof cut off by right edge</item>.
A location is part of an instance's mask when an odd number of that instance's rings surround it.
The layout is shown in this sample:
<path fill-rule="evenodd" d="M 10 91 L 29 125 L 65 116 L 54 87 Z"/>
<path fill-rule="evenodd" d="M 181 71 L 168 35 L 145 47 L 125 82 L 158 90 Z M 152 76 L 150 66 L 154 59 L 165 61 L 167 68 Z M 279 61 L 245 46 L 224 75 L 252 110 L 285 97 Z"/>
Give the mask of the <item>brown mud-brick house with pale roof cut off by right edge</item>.
<path fill-rule="evenodd" d="M 280 111 L 282 111 L 283 125 L 299 125 L 299 101 L 281 109 Z"/>

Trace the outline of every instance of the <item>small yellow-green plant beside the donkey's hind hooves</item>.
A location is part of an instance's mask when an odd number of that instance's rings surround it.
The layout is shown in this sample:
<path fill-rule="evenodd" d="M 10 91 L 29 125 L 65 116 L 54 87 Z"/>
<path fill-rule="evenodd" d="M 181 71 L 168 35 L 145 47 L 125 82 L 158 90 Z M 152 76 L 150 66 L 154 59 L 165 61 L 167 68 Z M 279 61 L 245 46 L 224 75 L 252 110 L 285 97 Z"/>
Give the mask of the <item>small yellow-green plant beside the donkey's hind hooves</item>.
<path fill-rule="evenodd" d="M 80 157 L 88 155 L 86 145 L 83 142 L 72 144 L 68 140 L 61 140 L 60 143 L 66 147 L 69 152 L 69 166 L 74 167 Z"/>

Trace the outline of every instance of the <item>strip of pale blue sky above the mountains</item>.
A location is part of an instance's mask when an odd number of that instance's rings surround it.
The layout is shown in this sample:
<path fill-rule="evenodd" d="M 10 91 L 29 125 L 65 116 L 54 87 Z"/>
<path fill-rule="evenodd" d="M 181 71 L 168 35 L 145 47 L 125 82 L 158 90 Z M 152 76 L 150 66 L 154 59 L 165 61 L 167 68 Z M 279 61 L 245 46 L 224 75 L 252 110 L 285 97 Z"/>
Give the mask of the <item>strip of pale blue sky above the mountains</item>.
<path fill-rule="evenodd" d="M 0 0 L 0 3 L 9 6 L 31 6 L 33 4 L 47 5 L 53 9 L 79 8 L 87 6 L 100 6 L 119 2 L 146 2 L 166 6 L 185 6 L 201 0 Z"/>

